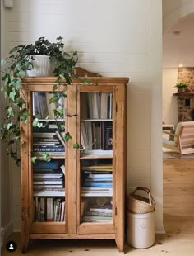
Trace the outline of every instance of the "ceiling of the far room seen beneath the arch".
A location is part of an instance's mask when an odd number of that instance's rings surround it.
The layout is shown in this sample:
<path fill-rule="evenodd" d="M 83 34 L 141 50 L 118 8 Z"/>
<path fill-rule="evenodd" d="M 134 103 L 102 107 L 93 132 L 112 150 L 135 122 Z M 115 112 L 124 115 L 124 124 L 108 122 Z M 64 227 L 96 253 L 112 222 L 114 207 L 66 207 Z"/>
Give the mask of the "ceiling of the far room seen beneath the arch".
<path fill-rule="evenodd" d="M 194 67 L 194 13 L 180 19 L 163 36 L 163 67 Z"/>

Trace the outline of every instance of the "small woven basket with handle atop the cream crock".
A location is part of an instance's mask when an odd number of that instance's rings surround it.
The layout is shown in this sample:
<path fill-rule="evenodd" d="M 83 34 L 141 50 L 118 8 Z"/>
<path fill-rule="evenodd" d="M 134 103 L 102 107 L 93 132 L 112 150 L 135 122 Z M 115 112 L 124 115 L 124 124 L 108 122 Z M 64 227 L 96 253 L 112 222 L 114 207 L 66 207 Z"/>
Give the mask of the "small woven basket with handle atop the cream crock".
<path fill-rule="evenodd" d="M 136 195 L 136 191 L 147 192 L 149 198 Z M 127 197 L 127 209 L 133 213 L 146 213 L 155 210 L 155 200 L 151 196 L 150 189 L 147 187 L 137 187 L 131 195 Z"/>

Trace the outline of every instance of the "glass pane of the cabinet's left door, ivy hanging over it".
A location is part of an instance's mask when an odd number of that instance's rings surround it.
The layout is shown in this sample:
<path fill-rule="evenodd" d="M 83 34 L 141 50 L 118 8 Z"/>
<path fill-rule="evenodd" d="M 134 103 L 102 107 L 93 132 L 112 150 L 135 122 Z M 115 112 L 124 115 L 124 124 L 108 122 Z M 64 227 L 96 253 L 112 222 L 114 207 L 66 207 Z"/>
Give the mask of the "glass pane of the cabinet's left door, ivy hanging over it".
<path fill-rule="evenodd" d="M 60 92 L 32 93 L 33 220 L 65 221 L 64 99 Z M 54 110 L 54 111 L 53 111 Z"/>

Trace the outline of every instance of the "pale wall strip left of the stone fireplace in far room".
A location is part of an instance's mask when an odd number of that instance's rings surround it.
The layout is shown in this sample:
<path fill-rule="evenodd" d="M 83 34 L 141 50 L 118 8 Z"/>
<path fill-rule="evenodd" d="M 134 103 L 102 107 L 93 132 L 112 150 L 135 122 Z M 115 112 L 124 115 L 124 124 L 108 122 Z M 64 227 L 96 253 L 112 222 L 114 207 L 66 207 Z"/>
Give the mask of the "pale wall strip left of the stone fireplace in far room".
<path fill-rule="evenodd" d="M 178 69 L 163 69 L 163 121 L 173 125 L 178 123 L 177 97 L 173 96 L 177 92 L 174 88 L 177 81 Z"/>

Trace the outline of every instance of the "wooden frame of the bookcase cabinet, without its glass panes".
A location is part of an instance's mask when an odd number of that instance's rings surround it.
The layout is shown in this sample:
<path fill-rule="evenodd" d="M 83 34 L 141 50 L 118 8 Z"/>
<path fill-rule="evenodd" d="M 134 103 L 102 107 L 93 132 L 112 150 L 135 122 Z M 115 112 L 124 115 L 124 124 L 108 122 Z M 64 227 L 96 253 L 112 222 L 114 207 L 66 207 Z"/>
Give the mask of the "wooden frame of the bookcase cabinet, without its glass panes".
<path fill-rule="evenodd" d="M 22 95 L 32 112 L 31 92 L 52 92 L 55 78 L 24 78 Z M 97 83 L 97 85 L 92 85 Z M 58 86 L 67 89 L 66 129 L 80 142 L 80 93 L 113 92 L 113 223 L 80 223 L 80 151 L 72 149 L 72 140 L 66 149 L 66 221 L 33 222 L 33 178 L 30 150 L 32 129 L 21 124 L 21 141 L 25 141 L 28 154 L 21 150 L 21 244 L 25 252 L 29 239 L 115 239 L 118 251 L 124 250 L 124 201 L 126 181 L 126 88 L 128 78 L 90 78 L 90 85 L 82 78 L 72 79 L 72 85 Z"/>

